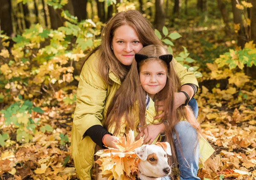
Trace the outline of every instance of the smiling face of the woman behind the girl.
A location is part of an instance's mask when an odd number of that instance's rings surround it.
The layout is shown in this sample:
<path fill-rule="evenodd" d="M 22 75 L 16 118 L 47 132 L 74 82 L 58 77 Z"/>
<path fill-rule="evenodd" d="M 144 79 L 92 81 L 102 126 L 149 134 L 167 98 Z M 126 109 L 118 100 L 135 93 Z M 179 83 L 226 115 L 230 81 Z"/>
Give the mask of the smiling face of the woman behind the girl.
<path fill-rule="evenodd" d="M 131 65 L 135 53 L 138 53 L 143 45 L 134 28 L 122 25 L 116 29 L 112 39 L 113 52 L 123 65 Z"/>

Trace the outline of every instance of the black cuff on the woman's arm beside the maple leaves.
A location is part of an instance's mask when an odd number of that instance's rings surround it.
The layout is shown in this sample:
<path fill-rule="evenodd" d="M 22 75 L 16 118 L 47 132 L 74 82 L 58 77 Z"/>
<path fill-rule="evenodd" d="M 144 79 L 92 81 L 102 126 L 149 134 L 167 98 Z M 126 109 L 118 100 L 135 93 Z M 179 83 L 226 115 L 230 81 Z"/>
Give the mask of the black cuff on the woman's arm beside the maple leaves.
<path fill-rule="evenodd" d="M 102 138 L 106 134 L 112 135 L 110 132 L 107 131 L 107 129 L 105 129 L 101 125 L 94 125 L 87 129 L 87 131 L 84 133 L 84 137 L 89 136 L 94 143 L 103 148 L 104 144 L 102 143 Z"/>

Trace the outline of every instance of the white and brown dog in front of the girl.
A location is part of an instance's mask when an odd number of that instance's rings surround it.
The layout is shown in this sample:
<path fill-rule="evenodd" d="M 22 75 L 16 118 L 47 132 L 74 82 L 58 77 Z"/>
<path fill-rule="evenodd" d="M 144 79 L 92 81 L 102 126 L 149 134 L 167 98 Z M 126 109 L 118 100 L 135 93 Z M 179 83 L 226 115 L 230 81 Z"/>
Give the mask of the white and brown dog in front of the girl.
<path fill-rule="evenodd" d="M 172 155 L 172 152 L 168 142 L 143 145 L 135 149 L 135 153 L 139 157 L 137 166 L 140 180 L 161 180 L 161 177 L 171 173 L 167 155 Z"/>

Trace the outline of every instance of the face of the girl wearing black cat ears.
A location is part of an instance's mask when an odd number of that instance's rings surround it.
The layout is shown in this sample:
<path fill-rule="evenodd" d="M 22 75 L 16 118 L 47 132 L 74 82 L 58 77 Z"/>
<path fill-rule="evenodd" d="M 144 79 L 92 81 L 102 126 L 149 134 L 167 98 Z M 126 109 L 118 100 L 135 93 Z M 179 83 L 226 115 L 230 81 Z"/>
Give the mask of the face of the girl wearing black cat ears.
<path fill-rule="evenodd" d="M 167 68 L 157 60 L 145 63 L 140 68 L 140 83 L 152 99 L 165 87 L 166 80 Z"/>

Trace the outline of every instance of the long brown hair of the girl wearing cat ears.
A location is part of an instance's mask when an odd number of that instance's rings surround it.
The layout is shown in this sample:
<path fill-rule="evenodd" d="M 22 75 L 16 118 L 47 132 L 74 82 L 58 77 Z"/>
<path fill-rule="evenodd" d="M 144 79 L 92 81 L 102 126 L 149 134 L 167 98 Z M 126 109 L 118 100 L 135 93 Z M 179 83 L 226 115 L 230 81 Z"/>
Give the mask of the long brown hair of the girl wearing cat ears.
<path fill-rule="evenodd" d="M 163 46 L 160 45 L 148 45 L 141 49 L 140 54 L 145 54 L 146 56 L 158 57 L 163 54 L 167 54 L 167 51 Z M 166 140 L 170 143 L 172 149 L 171 163 L 177 167 L 177 155 L 175 151 L 175 142 L 173 140 L 175 131 L 175 125 L 180 120 L 188 121 L 192 127 L 198 132 L 198 136 L 201 135 L 201 127 L 198 124 L 192 110 L 188 106 L 180 106 L 175 109 L 175 93 L 180 91 L 180 79 L 175 71 L 174 60 L 170 62 L 169 68 L 163 60 L 158 58 L 149 58 L 137 64 L 134 61 L 131 65 L 131 70 L 128 72 L 122 86 L 117 90 L 113 100 L 108 107 L 108 112 L 106 115 L 106 120 L 104 122 L 104 127 L 106 129 L 111 126 L 115 126 L 113 135 L 117 135 L 122 118 L 125 118 L 126 128 L 134 129 L 137 124 L 136 118 L 140 119 L 141 129 L 145 129 L 145 91 L 143 90 L 139 72 L 142 65 L 151 61 L 158 61 L 168 69 L 167 81 L 165 87 L 156 94 L 155 99 L 157 101 L 164 101 L 164 112 L 165 115 L 161 121 L 166 121 Z M 135 115 L 134 115 L 135 112 Z M 178 139 L 178 135 L 177 135 Z M 179 141 L 179 140 L 178 140 Z M 189 165 L 188 165 L 189 166 Z"/>

